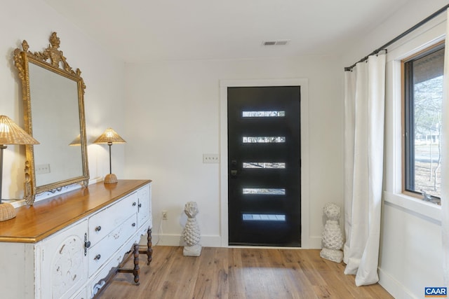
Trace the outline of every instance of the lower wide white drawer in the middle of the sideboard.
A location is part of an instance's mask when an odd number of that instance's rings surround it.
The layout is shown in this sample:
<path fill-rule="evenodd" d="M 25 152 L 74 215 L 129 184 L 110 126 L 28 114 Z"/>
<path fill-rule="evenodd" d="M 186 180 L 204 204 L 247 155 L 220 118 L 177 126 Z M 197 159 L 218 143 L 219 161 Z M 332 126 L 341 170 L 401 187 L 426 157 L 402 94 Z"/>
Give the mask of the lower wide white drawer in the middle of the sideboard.
<path fill-rule="evenodd" d="M 89 277 L 95 273 L 137 230 L 137 214 L 133 214 L 98 244 L 88 250 Z"/>

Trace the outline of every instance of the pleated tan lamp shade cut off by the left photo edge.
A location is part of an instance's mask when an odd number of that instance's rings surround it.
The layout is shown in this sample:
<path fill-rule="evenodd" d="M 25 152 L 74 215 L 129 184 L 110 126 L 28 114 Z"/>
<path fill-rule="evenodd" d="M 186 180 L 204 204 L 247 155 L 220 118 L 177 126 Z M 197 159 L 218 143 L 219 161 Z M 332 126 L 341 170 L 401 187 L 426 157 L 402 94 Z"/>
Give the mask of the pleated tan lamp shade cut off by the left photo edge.
<path fill-rule="evenodd" d="M 0 116 L 0 144 L 39 144 L 8 116 Z"/>

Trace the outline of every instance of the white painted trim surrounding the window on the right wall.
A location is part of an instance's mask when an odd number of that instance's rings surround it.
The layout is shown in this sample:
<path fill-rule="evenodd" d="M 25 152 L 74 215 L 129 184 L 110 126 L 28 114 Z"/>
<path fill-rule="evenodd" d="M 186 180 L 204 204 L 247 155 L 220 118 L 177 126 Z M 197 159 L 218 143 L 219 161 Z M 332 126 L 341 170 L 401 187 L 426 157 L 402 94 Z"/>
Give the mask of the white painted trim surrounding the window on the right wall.
<path fill-rule="evenodd" d="M 441 206 L 402 193 L 402 95 L 401 60 L 445 39 L 446 15 L 442 13 L 415 32 L 390 46 L 387 53 L 385 99 L 384 201 L 441 223 Z M 448 47 L 449 45 L 446 45 Z"/>

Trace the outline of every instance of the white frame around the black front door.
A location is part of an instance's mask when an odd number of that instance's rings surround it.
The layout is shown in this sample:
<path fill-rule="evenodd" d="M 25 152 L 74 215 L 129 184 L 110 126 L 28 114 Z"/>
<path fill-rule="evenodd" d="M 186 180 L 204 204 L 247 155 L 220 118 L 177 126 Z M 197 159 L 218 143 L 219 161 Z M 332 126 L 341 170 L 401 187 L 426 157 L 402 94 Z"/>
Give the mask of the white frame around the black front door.
<path fill-rule="evenodd" d="M 301 248 L 309 248 L 309 104 L 307 79 L 220 81 L 220 225 L 221 246 L 229 246 L 227 190 L 227 88 L 300 86 L 301 92 Z"/>

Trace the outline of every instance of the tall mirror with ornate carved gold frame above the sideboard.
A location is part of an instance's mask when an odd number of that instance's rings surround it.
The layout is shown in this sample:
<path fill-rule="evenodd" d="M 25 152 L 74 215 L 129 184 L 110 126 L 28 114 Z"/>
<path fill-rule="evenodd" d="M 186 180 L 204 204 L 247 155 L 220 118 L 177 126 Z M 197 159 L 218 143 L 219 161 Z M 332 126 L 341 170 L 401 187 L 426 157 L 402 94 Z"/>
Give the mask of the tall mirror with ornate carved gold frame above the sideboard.
<path fill-rule="evenodd" d="M 56 32 L 43 52 L 30 52 L 27 41 L 14 50 L 22 80 L 25 130 L 41 144 L 26 146 L 25 200 L 73 183 L 88 185 L 89 170 L 81 71 L 67 63 Z"/>

